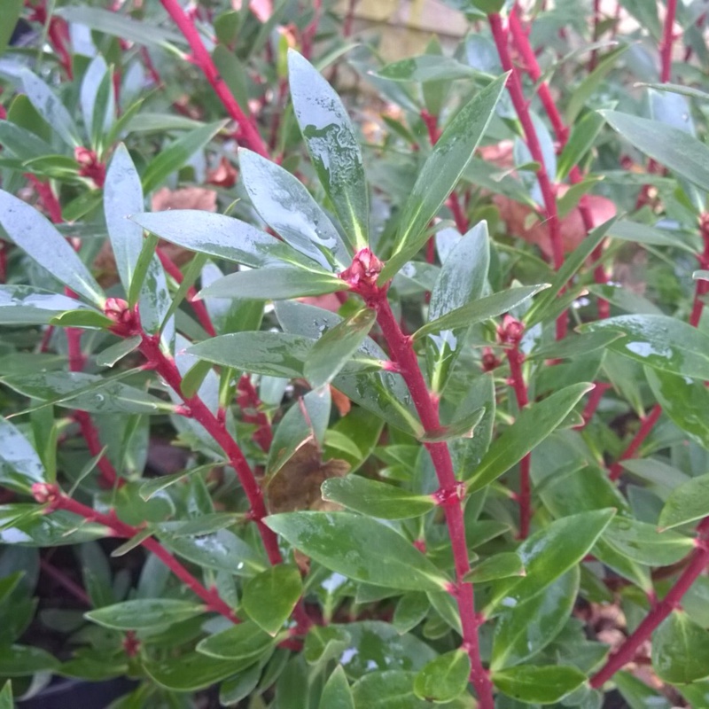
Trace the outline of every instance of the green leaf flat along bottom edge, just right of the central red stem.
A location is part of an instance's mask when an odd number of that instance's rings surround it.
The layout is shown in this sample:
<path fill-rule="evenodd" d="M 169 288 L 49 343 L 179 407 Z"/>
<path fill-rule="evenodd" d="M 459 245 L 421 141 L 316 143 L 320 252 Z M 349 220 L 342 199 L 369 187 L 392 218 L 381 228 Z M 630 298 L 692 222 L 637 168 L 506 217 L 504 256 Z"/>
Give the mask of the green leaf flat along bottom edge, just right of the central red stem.
<path fill-rule="evenodd" d="M 586 681 L 573 666 L 520 665 L 492 674 L 498 690 L 525 704 L 554 704 Z"/>

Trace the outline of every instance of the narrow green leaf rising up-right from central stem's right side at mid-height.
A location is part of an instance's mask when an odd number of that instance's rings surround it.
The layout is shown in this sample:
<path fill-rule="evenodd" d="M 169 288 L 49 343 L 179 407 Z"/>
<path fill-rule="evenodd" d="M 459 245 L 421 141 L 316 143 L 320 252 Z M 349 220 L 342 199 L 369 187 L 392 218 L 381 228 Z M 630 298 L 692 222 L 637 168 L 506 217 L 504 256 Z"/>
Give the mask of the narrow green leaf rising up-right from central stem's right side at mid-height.
<path fill-rule="evenodd" d="M 523 409 L 517 421 L 495 440 L 467 483 L 468 492 L 474 492 L 510 470 L 530 450 L 556 430 L 580 398 L 593 388 L 581 382 L 566 386 L 547 399 Z"/>

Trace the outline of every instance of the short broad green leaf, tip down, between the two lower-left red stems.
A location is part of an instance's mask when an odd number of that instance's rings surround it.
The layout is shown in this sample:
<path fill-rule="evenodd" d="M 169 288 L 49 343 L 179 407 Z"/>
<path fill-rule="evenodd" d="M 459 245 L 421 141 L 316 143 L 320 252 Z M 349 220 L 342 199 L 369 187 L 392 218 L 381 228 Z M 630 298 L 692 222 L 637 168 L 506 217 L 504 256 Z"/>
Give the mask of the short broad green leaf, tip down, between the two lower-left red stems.
<path fill-rule="evenodd" d="M 272 566 L 246 581 L 241 603 L 253 622 L 276 635 L 298 603 L 302 588 L 295 566 Z"/>

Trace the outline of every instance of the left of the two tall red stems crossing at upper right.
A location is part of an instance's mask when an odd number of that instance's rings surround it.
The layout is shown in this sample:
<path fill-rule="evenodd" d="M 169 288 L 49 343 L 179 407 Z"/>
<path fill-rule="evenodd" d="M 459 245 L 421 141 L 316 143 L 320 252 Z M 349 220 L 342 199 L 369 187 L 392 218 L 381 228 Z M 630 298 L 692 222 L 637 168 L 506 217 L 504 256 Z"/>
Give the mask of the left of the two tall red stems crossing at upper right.
<path fill-rule="evenodd" d="M 512 105 L 515 107 L 519 122 L 525 134 L 525 141 L 529 149 L 532 159 L 539 163 L 539 169 L 536 172 L 537 181 L 541 190 L 541 197 L 544 202 L 544 218 L 549 226 L 549 239 L 551 241 L 552 261 L 554 269 L 558 270 L 564 263 L 564 248 L 561 240 L 561 230 L 559 228 L 559 218 L 557 211 L 557 199 L 554 194 L 551 180 L 544 167 L 544 156 L 541 152 L 541 144 L 539 136 L 537 136 L 532 116 L 529 113 L 524 91 L 522 90 L 522 81 L 519 78 L 518 69 L 512 64 L 510 50 L 508 48 L 508 32 L 503 18 L 497 13 L 492 12 L 487 15 L 492 30 L 493 39 L 497 54 L 500 57 L 500 62 L 503 65 L 505 72 L 510 72 L 510 77 L 507 80 L 507 90 L 510 92 Z M 557 339 L 565 337 L 568 327 L 566 313 L 563 313 L 557 319 Z"/>

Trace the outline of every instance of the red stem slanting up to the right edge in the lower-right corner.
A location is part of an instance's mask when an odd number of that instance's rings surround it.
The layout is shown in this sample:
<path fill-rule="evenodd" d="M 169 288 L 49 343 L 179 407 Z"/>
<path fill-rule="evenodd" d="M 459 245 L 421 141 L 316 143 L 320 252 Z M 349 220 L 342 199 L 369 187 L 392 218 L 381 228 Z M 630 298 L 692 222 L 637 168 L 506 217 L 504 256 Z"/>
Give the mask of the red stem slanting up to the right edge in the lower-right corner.
<path fill-rule="evenodd" d="M 653 606 L 651 612 L 645 616 L 643 622 L 635 629 L 635 633 L 630 635 L 626 642 L 612 653 L 601 670 L 591 678 L 590 685 L 593 689 L 602 687 L 604 682 L 610 680 L 613 674 L 635 658 L 635 652 L 640 645 L 649 640 L 655 628 L 671 612 L 680 607 L 682 596 L 687 593 L 699 574 L 709 565 L 709 518 L 705 518 L 697 527 L 696 543 L 697 549 L 692 554 L 690 564 L 684 569 L 669 593 Z"/>

